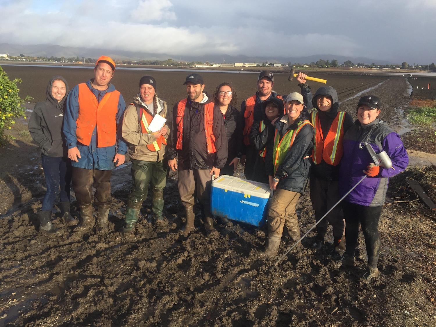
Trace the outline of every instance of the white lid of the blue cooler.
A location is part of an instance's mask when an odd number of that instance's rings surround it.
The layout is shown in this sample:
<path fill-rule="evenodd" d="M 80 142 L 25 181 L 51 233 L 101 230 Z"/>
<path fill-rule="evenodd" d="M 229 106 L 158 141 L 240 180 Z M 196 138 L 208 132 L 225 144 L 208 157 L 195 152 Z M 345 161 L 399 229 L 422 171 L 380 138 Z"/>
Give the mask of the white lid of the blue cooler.
<path fill-rule="evenodd" d="M 258 198 L 269 198 L 268 184 L 249 181 L 235 176 L 221 175 L 212 181 L 212 187 L 221 188 L 225 192 L 232 191 Z"/>

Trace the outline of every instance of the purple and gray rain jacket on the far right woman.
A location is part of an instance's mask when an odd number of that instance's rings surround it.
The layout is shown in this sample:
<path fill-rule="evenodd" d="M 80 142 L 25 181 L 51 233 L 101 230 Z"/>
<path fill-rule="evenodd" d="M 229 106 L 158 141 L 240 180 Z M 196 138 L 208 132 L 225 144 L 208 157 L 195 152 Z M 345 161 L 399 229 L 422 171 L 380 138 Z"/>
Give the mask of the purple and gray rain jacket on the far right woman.
<path fill-rule="evenodd" d="M 378 207 L 385 203 L 389 177 L 401 173 L 409 164 L 406 149 L 397 133 L 381 119 L 361 126 L 356 120 L 354 126 L 344 135 L 344 155 L 339 168 L 339 193 L 346 194 L 364 176 L 363 170 L 373 162 L 366 148 L 359 149 L 359 143 L 371 144 L 375 153 L 386 151 L 395 168 L 380 167 L 376 177 L 366 177 L 344 201 L 368 207 Z"/>

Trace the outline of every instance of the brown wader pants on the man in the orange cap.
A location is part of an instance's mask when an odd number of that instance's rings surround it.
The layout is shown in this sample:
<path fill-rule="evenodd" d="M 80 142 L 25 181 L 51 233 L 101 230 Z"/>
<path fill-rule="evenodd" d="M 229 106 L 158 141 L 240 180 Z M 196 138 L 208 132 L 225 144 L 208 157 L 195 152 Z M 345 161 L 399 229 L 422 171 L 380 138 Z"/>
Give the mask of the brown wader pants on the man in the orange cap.
<path fill-rule="evenodd" d="M 109 208 L 112 203 L 110 193 L 111 176 L 112 170 L 73 167 L 73 189 L 78 204 L 85 205 L 94 202 L 98 207 Z M 95 187 L 94 195 L 92 195 L 92 187 Z"/>

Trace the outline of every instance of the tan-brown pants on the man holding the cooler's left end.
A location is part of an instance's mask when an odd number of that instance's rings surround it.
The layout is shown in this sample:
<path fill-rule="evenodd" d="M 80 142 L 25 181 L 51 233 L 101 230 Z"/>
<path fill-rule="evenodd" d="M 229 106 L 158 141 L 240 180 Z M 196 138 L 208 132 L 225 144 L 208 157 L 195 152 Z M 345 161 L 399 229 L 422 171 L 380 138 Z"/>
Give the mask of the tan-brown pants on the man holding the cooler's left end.
<path fill-rule="evenodd" d="M 183 205 L 185 207 L 194 205 L 194 196 L 197 195 L 206 217 L 211 216 L 210 189 L 212 177 L 209 172 L 210 169 L 179 169 L 177 173 L 177 186 Z"/>

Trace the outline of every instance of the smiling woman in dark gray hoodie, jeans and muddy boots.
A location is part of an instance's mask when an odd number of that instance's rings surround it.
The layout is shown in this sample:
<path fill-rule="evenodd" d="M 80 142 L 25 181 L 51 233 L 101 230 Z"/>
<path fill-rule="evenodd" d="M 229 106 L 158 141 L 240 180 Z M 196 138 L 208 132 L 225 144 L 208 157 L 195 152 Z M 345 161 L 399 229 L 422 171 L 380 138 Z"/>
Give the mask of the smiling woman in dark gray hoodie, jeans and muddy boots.
<path fill-rule="evenodd" d="M 68 83 L 61 76 L 53 76 L 48 82 L 46 99 L 38 102 L 29 120 L 29 132 L 41 150 L 47 192 L 38 212 L 40 232 L 54 235 L 58 229 L 51 224 L 51 210 L 56 194 L 61 189 L 58 204 L 68 226 L 77 224 L 70 214 L 71 163 L 62 131 L 64 102 L 68 95 Z"/>

